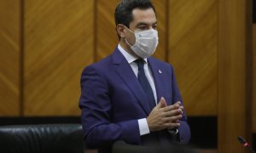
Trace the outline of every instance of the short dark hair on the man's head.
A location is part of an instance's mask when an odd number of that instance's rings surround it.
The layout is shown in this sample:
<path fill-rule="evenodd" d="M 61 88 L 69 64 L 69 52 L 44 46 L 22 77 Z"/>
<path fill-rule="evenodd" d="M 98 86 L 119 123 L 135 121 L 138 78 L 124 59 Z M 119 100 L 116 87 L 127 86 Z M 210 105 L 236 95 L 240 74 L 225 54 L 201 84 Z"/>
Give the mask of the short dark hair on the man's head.
<path fill-rule="evenodd" d="M 150 0 L 121 0 L 118 6 L 115 8 L 115 25 L 117 26 L 118 24 L 122 24 L 130 28 L 130 23 L 133 20 L 132 10 L 135 8 L 153 8 L 155 13 L 154 5 Z"/>

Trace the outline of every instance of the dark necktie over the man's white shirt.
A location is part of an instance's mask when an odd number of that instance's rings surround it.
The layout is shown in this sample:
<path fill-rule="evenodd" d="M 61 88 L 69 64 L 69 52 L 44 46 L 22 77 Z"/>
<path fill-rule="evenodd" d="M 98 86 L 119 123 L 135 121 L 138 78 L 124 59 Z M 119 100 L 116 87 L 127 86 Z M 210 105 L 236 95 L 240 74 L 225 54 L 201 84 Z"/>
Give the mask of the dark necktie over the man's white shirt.
<path fill-rule="evenodd" d="M 140 82 L 145 94 L 148 97 L 149 106 L 152 110 L 155 106 L 155 100 L 154 100 L 153 90 L 145 75 L 145 71 L 144 71 L 145 61 L 143 59 L 137 59 L 135 60 L 135 62 L 137 63 L 137 67 L 138 67 L 138 73 L 137 73 L 138 81 Z"/>

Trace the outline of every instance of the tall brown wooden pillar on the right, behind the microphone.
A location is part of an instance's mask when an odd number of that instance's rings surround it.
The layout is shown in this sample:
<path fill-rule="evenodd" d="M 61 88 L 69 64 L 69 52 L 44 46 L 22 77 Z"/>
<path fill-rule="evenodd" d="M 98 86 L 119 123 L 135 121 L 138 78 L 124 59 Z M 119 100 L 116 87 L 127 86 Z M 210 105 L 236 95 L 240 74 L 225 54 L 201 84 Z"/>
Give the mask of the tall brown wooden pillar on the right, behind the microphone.
<path fill-rule="evenodd" d="M 237 136 L 247 138 L 246 1 L 219 1 L 218 152 L 246 152 Z"/>

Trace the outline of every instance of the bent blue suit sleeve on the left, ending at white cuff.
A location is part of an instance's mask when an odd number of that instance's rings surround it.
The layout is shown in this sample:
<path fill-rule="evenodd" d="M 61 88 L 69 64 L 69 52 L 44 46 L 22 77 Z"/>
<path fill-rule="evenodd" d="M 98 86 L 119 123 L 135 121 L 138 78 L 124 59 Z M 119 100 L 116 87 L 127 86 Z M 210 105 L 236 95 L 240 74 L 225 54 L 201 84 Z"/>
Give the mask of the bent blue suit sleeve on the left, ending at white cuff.
<path fill-rule="evenodd" d="M 111 121 L 111 98 L 108 81 L 94 67 L 84 69 L 81 77 L 81 97 L 84 141 L 90 147 L 108 147 L 116 140 L 139 144 L 137 120 Z M 121 99 L 120 99 L 121 100 Z"/>

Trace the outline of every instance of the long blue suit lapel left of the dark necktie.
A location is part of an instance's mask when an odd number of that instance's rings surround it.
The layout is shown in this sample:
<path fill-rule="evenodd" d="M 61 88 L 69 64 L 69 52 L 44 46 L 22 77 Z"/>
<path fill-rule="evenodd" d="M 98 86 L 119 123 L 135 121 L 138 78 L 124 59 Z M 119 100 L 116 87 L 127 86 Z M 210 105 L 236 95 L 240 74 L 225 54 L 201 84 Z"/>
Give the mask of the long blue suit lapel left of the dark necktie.
<path fill-rule="evenodd" d="M 150 113 L 148 99 L 143 93 L 143 88 L 132 71 L 131 65 L 129 65 L 123 54 L 119 52 L 118 48 L 116 48 L 113 53 L 113 65 L 115 67 L 115 71 L 119 74 L 119 77 L 121 77 L 127 87 L 130 88 L 131 92 L 138 99 L 139 105 L 142 106 L 143 110 L 148 115 Z"/>

